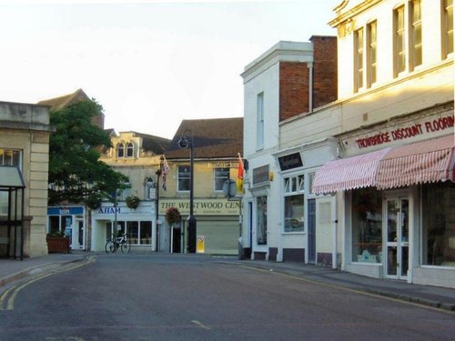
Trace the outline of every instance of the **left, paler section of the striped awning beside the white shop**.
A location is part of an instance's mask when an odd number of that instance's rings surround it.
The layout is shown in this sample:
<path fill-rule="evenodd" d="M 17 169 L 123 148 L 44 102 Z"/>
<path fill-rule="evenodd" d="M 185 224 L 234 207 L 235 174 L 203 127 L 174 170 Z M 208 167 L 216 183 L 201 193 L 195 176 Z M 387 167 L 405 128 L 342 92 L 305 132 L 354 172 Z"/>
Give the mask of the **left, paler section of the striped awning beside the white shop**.
<path fill-rule="evenodd" d="M 389 148 L 364 155 L 329 161 L 316 172 L 311 191 L 333 193 L 354 188 L 376 186 L 379 161 Z"/>

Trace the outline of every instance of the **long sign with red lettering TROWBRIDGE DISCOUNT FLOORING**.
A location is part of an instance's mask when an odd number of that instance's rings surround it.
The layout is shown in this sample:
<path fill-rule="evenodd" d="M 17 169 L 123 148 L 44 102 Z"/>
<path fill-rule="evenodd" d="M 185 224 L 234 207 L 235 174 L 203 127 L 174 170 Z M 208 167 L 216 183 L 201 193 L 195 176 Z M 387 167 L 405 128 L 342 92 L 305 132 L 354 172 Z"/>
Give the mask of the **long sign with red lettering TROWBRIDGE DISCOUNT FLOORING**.
<path fill-rule="evenodd" d="M 345 148 L 366 149 L 377 145 L 387 146 L 397 141 L 420 141 L 453 131 L 453 121 L 453 114 L 423 117 L 406 125 L 394 125 L 369 135 L 342 139 L 341 143 Z"/>

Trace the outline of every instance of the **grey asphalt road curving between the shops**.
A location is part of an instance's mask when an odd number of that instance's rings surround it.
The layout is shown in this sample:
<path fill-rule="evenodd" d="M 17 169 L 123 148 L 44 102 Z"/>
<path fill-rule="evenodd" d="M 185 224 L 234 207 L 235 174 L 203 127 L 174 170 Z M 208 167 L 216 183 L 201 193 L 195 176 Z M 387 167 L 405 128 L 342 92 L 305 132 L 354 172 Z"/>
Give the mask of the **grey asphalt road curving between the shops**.
<path fill-rule="evenodd" d="M 8 295 L 5 291 L 9 290 Z M 99 255 L 0 288 L 0 340 L 453 339 L 455 315 L 197 255 Z"/>

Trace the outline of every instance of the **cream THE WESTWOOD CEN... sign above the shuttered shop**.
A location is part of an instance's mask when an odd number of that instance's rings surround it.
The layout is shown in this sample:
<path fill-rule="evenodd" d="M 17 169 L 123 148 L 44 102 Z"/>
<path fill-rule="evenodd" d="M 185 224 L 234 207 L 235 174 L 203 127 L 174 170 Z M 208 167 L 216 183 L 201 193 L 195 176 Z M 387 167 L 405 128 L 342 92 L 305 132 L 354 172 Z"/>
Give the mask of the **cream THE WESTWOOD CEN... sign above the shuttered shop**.
<path fill-rule="evenodd" d="M 238 216 L 240 202 L 224 198 L 195 198 L 193 213 L 195 216 Z M 188 198 L 160 198 L 159 214 L 165 215 L 169 207 L 176 207 L 182 215 L 189 214 Z"/>

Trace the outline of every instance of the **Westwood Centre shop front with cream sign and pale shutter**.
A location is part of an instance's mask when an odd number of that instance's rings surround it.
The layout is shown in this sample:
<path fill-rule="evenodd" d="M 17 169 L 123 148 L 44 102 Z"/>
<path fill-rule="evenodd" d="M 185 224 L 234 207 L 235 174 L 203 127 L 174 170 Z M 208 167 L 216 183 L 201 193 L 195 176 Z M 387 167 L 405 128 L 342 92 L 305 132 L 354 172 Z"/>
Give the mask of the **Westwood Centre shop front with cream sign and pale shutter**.
<path fill-rule="evenodd" d="M 197 252 L 210 255 L 238 255 L 240 202 L 226 198 L 195 198 L 194 216 L 197 218 Z M 167 210 L 176 207 L 181 221 L 169 224 Z M 158 250 L 170 253 L 187 252 L 187 198 L 160 198 Z M 201 244 L 202 243 L 202 244 Z"/>

